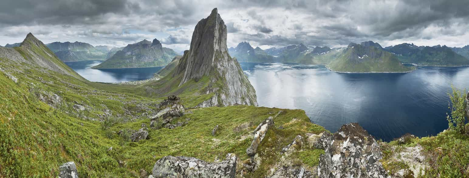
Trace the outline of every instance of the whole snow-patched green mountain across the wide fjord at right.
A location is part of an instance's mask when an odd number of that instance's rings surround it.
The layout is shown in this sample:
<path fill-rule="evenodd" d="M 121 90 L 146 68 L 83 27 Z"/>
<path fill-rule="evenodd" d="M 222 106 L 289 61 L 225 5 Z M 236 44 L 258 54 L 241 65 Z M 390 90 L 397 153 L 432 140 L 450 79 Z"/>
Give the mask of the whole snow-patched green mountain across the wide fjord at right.
<path fill-rule="evenodd" d="M 360 73 L 407 72 L 413 69 L 403 66 L 396 56 L 373 42 L 349 44 L 347 49 L 327 66 L 338 72 Z"/>

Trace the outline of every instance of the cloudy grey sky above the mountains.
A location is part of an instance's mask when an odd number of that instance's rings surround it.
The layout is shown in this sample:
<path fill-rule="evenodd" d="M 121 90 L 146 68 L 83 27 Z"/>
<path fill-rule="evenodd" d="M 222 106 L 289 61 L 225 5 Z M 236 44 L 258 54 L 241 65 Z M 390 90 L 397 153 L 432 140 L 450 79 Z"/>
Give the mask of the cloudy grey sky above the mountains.
<path fill-rule="evenodd" d="M 469 44 L 469 0 L 1 0 L 0 45 L 32 32 L 44 43 L 126 46 L 157 38 L 176 52 L 213 8 L 227 25 L 228 47 L 350 42 Z"/>

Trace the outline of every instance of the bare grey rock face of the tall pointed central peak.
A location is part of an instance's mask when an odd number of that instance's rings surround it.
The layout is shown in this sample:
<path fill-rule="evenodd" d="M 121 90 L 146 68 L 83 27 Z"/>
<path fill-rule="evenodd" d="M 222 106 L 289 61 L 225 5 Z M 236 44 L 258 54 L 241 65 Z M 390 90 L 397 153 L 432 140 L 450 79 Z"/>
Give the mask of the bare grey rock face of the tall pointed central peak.
<path fill-rule="evenodd" d="M 257 105 L 257 96 L 238 61 L 232 59 L 227 48 L 227 26 L 217 8 L 202 19 L 192 34 L 190 49 L 184 53 L 173 76 L 182 75 L 179 86 L 188 81 L 210 78 L 206 94 L 211 99 L 200 106 L 247 104 Z"/>

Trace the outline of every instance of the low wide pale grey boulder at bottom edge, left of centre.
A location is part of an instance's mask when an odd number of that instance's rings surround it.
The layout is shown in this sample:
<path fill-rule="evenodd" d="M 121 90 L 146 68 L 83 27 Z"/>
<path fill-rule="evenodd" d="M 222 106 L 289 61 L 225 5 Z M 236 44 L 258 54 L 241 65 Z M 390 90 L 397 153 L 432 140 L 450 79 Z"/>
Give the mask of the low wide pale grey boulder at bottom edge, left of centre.
<path fill-rule="evenodd" d="M 227 154 L 220 163 L 207 163 L 194 157 L 165 156 L 153 166 L 155 178 L 234 178 L 237 158 Z"/>

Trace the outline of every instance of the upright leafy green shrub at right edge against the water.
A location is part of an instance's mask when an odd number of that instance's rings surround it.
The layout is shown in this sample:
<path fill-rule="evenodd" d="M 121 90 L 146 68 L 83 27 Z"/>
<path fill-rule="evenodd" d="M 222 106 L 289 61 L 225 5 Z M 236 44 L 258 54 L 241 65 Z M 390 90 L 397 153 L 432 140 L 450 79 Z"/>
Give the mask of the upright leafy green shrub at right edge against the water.
<path fill-rule="evenodd" d="M 447 114 L 448 126 L 450 129 L 455 129 L 461 134 L 464 134 L 464 124 L 466 123 L 466 90 L 462 91 L 454 88 L 453 93 L 448 93 L 451 104 L 448 103 L 448 109 L 451 110 L 451 115 Z M 456 125 L 456 126 L 454 126 Z"/>

